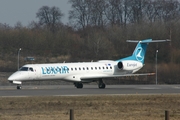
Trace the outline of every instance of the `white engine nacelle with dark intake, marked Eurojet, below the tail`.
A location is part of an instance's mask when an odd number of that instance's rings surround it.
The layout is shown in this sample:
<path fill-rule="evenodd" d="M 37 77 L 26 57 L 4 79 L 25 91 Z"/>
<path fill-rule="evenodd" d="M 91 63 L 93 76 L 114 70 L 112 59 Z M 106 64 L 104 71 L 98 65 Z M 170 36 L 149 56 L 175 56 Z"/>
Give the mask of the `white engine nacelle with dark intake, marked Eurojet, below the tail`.
<path fill-rule="evenodd" d="M 143 64 L 138 61 L 133 61 L 133 60 L 125 60 L 125 61 L 119 61 L 117 63 L 117 67 L 120 70 L 139 70 L 140 68 L 143 67 Z"/>

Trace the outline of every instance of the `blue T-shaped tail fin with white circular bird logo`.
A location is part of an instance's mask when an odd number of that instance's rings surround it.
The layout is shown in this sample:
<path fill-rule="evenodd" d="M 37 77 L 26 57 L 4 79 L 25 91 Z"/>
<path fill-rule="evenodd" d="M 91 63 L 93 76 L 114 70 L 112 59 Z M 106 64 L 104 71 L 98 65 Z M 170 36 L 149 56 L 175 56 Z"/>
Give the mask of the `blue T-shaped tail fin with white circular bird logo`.
<path fill-rule="evenodd" d="M 144 58 L 145 58 L 145 54 L 146 54 L 146 49 L 149 43 L 151 42 L 166 42 L 166 41 L 170 41 L 170 40 L 152 40 L 152 39 L 146 39 L 146 40 L 142 40 L 142 41 L 133 41 L 133 40 L 127 40 L 127 42 L 135 42 L 138 43 L 132 56 L 117 60 L 117 61 L 121 61 L 121 60 L 135 60 L 135 61 L 139 61 L 142 64 L 144 64 Z"/>

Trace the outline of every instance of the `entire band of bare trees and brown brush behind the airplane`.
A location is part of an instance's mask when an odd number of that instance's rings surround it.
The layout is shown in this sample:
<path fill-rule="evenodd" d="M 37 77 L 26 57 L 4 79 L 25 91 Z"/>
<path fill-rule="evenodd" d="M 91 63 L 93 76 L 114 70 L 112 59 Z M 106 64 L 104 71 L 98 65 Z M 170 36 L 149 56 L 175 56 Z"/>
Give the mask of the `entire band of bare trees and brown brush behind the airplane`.
<path fill-rule="evenodd" d="M 0 23 L 0 70 L 17 70 L 27 63 L 116 60 L 132 54 L 135 45 L 127 39 L 171 39 L 148 46 L 145 67 L 155 71 L 158 52 L 158 79 L 179 83 L 180 3 L 178 0 L 69 0 L 69 23 L 58 7 L 42 6 L 38 21 L 12 27 Z M 35 61 L 27 61 L 31 56 Z M 124 80 L 135 78 L 123 78 Z M 137 78 L 152 82 L 153 77 Z"/>

